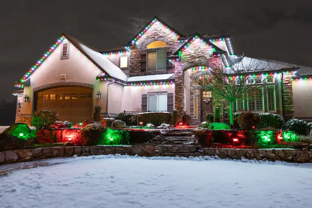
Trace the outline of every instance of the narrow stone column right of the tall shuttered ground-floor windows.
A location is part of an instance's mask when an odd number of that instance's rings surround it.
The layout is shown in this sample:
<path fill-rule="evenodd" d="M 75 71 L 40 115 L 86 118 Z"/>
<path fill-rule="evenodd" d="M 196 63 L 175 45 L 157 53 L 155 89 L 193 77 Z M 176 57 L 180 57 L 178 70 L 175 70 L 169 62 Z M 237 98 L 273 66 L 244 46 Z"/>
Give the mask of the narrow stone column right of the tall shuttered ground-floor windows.
<path fill-rule="evenodd" d="M 294 99 L 292 92 L 291 73 L 283 73 L 283 91 L 284 91 L 284 118 L 285 121 L 295 117 Z"/>

